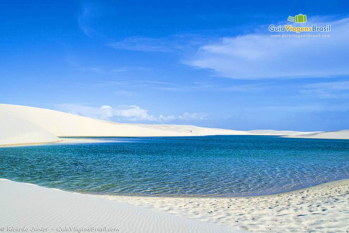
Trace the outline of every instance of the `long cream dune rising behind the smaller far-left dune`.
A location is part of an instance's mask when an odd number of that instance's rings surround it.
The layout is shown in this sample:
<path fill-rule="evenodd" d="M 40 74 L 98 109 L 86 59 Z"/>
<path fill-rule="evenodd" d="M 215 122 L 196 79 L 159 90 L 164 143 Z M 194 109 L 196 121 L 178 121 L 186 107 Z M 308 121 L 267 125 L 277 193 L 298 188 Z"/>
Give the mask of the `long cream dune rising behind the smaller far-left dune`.
<path fill-rule="evenodd" d="M 83 136 L 200 136 L 214 134 L 250 134 L 245 131 L 210 129 L 187 125 L 142 125 L 123 124 L 92 119 L 66 112 L 13 104 L 0 104 L 0 113 L 6 112 L 58 137 Z"/>

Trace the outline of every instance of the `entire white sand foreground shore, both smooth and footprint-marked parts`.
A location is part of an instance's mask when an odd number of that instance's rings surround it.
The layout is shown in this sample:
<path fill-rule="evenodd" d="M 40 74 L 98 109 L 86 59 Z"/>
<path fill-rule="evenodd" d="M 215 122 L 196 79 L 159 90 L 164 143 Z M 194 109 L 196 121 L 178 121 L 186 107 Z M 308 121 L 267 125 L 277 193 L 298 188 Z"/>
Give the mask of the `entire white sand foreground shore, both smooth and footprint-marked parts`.
<path fill-rule="evenodd" d="M 349 180 L 276 195 L 85 195 L 0 179 L 0 227 L 118 228 L 119 232 L 347 232 Z M 52 230 L 53 229 L 53 230 Z M 23 232 L 23 231 L 20 231 Z"/>

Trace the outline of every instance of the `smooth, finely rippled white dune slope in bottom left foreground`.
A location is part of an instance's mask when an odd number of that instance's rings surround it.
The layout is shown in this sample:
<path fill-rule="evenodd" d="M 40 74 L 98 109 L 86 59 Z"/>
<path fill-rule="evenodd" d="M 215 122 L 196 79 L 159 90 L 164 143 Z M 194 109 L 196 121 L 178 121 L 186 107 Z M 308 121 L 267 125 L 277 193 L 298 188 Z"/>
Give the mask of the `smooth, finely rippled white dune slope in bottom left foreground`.
<path fill-rule="evenodd" d="M 104 232 L 123 233 L 247 232 L 238 227 L 219 226 L 97 196 L 43 188 L 6 179 L 0 179 L 0 189 L 0 227 L 4 227 L 5 232 L 11 231 L 8 231 L 8 227 L 25 227 L 28 228 L 28 232 L 32 227 L 48 228 L 40 232 L 58 232 L 66 227 L 106 227 L 118 231 Z"/>

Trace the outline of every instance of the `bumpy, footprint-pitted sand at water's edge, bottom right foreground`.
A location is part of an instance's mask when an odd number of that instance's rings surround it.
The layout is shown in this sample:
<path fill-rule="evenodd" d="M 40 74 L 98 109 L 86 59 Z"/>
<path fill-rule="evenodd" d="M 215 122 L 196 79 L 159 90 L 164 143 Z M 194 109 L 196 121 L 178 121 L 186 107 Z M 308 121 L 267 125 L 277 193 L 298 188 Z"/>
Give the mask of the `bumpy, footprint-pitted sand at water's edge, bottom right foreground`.
<path fill-rule="evenodd" d="M 349 232 L 349 179 L 255 197 L 101 196 L 252 232 Z"/>

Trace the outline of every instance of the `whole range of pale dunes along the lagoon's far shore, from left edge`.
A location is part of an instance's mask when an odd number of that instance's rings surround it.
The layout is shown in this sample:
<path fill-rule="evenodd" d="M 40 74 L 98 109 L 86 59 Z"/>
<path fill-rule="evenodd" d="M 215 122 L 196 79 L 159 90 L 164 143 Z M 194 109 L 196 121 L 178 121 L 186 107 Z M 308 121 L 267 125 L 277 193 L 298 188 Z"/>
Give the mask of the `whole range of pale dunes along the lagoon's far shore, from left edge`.
<path fill-rule="evenodd" d="M 58 137 L 173 137 L 205 135 L 295 136 L 314 132 L 205 128 L 194 125 L 128 124 L 66 112 L 0 104 L 0 145 L 49 143 Z"/>

